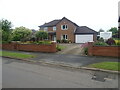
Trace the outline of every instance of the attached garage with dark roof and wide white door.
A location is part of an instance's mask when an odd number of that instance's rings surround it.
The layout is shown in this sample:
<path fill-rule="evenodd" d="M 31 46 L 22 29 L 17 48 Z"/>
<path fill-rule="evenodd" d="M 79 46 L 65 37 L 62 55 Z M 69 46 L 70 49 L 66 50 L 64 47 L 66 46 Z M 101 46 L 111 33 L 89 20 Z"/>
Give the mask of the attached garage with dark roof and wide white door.
<path fill-rule="evenodd" d="M 75 43 L 86 43 L 96 39 L 97 32 L 86 26 L 78 27 L 75 31 Z"/>

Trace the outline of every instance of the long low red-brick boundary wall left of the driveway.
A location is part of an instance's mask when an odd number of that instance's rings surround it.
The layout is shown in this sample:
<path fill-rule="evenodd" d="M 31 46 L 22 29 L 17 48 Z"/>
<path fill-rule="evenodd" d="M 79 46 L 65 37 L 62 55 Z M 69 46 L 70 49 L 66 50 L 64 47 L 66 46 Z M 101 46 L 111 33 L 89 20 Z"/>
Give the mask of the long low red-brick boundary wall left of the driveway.
<path fill-rule="evenodd" d="M 55 53 L 56 50 L 56 43 L 51 43 L 50 45 L 44 44 L 17 44 L 17 43 L 10 43 L 10 44 L 2 44 L 0 48 L 5 50 L 18 50 L 18 51 L 34 51 L 34 52 L 49 52 Z"/>

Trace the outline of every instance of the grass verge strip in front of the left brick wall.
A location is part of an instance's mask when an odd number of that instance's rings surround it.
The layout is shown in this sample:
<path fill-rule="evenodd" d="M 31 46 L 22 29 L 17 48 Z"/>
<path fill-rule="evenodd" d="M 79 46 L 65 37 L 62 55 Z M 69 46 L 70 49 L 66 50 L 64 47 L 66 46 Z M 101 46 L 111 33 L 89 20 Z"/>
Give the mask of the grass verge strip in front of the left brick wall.
<path fill-rule="evenodd" d="M 8 51 L 0 51 L 0 56 L 6 56 L 6 57 L 11 57 L 11 58 L 19 58 L 19 59 L 27 59 L 27 58 L 35 57 L 34 55 L 30 55 L 30 54 L 8 52 Z"/>

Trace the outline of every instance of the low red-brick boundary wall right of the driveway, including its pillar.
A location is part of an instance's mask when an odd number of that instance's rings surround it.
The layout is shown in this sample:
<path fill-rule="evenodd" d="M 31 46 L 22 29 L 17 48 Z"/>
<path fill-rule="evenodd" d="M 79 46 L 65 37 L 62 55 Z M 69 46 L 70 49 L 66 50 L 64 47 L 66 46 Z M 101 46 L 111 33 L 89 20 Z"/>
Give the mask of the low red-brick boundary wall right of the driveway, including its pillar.
<path fill-rule="evenodd" d="M 89 56 L 111 56 L 120 57 L 120 46 L 93 46 L 92 42 L 88 42 Z"/>

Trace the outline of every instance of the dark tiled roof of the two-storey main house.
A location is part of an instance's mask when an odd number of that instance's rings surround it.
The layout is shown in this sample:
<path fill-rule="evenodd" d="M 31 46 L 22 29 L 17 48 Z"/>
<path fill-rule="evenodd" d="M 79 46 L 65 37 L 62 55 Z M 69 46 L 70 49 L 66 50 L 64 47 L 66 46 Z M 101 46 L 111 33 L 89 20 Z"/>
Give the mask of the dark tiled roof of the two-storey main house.
<path fill-rule="evenodd" d="M 63 19 L 67 19 L 66 17 L 63 17 L 60 20 L 53 20 L 51 22 L 45 23 L 39 27 L 52 27 L 52 26 L 56 26 L 60 21 L 62 21 Z M 78 26 L 76 23 L 72 22 L 71 20 L 67 19 L 68 21 L 70 21 L 71 23 L 73 23 L 75 26 Z"/>

